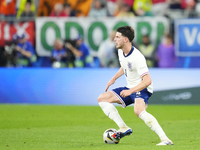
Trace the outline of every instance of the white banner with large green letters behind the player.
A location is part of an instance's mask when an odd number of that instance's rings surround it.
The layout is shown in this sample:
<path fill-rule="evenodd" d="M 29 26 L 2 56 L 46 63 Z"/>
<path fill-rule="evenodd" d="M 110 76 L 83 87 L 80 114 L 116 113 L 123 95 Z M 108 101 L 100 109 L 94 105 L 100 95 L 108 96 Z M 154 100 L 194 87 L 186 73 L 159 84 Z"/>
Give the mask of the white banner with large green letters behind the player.
<path fill-rule="evenodd" d="M 132 26 L 135 39 L 141 43 L 142 35 L 148 34 L 153 44 L 162 40 L 165 32 L 169 31 L 170 22 L 164 17 L 134 17 L 134 18 L 36 18 L 36 50 L 39 56 L 50 56 L 56 38 L 75 39 L 82 35 L 92 54 L 98 51 L 100 43 L 107 39 L 112 30 L 120 26 Z"/>

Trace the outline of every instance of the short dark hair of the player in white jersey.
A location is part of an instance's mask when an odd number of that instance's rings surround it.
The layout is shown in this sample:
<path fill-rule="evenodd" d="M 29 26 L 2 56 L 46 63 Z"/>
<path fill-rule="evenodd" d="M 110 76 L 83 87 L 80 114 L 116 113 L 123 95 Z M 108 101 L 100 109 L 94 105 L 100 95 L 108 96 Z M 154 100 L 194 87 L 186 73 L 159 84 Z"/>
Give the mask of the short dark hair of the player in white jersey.
<path fill-rule="evenodd" d="M 122 36 L 127 37 L 130 42 L 132 42 L 135 37 L 135 31 L 131 26 L 119 27 L 117 32 L 120 32 Z"/>

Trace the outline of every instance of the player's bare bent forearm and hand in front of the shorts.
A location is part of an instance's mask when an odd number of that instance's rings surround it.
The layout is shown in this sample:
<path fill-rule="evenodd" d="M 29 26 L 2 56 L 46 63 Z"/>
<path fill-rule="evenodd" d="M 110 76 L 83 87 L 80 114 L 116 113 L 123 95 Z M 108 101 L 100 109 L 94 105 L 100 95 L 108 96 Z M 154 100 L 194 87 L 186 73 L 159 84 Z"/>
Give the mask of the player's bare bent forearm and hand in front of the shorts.
<path fill-rule="evenodd" d="M 149 73 L 147 73 L 144 76 L 142 76 L 142 81 L 137 86 L 135 86 L 129 90 L 121 91 L 120 95 L 122 97 L 127 97 L 127 96 L 131 95 L 132 93 L 142 91 L 143 89 L 147 88 L 151 83 L 152 83 L 151 76 Z"/>

